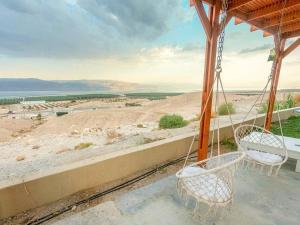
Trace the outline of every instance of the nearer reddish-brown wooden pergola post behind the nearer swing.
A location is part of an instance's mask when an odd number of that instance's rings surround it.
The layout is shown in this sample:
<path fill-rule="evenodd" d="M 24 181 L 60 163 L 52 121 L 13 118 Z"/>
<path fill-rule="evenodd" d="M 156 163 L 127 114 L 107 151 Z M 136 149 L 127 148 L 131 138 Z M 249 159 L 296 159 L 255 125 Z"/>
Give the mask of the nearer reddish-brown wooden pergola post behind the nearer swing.
<path fill-rule="evenodd" d="M 205 67 L 202 91 L 202 120 L 200 121 L 199 129 L 199 146 L 198 146 L 198 160 L 207 158 L 208 140 L 210 133 L 210 119 L 213 93 L 210 90 L 213 88 L 213 80 L 215 74 L 217 42 L 219 35 L 219 15 L 221 8 L 221 1 L 215 1 L 209 6 L 208 16 L 202 10 L 202 1 L 195 1 L 195 7 L 206 31 L 206 51 L 205 51 Z"/>

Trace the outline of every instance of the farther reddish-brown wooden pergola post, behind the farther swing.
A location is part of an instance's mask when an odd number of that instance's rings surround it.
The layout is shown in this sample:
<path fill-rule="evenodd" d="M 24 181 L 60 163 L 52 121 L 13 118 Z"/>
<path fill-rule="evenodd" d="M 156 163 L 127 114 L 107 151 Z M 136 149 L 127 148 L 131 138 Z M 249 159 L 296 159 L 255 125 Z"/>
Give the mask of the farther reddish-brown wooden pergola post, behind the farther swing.
<path fill-rule="evenodd" d="M 275 42 L 275 49 L 276 49 L 276 58 L 275 58 L 276 61 L 275 61 L 275 69 L 272 77 L 271 89 L 269 94 L 268 111 L 266 114 L 267 117 L 265 123 L 266 130 L 270 130 L 271 128 L 277 86 L 278 86 L 278 81 L 280 76 L 280 69 L 281 69 L 282 59 L 284 57 L 285 39 L 279 41 L 278 38 L 274 36 L 274 42 Z"/>

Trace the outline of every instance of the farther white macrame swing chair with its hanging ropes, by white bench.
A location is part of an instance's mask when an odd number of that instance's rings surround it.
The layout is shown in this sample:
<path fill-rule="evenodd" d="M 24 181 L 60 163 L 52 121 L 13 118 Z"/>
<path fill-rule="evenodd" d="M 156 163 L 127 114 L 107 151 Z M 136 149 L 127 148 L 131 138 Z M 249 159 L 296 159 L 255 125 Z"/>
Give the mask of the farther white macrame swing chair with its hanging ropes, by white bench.
<path fill-rule="evenodd" d="M 283 11 L 285 5 L 286 5 L 286 1 L 284 2 L 284 7 L 281 10 L 281 19 L 280 19 L 280 25 L 278 31 L 279 43 L 281 39 L 281 25 L 282 25 Z M 254 108 L 254 105 L 259 99 L 260 99 L 260 105 L 262 106 L 263 99 L 266 94 L 268 85 L 270 81 L 274 79 L 276 61 L 277 61 L 276 49 L 271 50 L 268 61 L 273 61 L 271 74 L 268 78 L 266 86 L 262 91 L 261 97 L 259 96 L 256 99 L 250 111 Z M 273 92 L 273 95 L 275 96 L 275 100 L 276 100 L 275 89 L 271 87 L 270 91 Z M 244 165 L 246 167 L 250 167 L 250 166 L 254 168 L 258 167 L 262 172 L 264 171 L 264 169 L 266 169 L 267 175 L 274 174 L 275 176 L 278 174 L 278 171 L 281 168 L 282 164 L 284 164 L 288 159 L 288 152 L 284 143 L 284 136 L 283 136 L 282 126 L 281 126 L 279 104 L 275 104 L 275 106 L 276 105 L 277 105 L 277 116 L 278 116 L 278 123 L 281 132 L 281 137 L 274 135 L 265 127 L 259 127 L 255 125 L 258 111 L 256 113 L 256 117 L 252 124 L 241 125 L 242 124 L 241 123 L 240 126 L 238 126 L 234 131 L 234 138 L 238 145 L 238 150 L 246 153 Z M 249 115 L 249 112 L 247 115 Z M 266 125 L 266 116 L 265 116 L 264 124 Z"/>

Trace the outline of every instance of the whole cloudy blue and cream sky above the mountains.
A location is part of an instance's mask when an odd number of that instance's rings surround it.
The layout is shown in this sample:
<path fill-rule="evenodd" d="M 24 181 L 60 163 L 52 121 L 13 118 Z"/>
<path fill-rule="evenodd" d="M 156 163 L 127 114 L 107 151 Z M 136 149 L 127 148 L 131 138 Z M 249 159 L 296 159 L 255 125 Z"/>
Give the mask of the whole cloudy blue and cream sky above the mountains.
<path fill-rule="evenodd" d="M 0 0 L 0 77 L 202 85 L 205 35 L 188 0 Z M 226 30 L 227 88 L 259 88 L 272 38 Z M 280 88 L 300 88 L 300 48 Z"/>

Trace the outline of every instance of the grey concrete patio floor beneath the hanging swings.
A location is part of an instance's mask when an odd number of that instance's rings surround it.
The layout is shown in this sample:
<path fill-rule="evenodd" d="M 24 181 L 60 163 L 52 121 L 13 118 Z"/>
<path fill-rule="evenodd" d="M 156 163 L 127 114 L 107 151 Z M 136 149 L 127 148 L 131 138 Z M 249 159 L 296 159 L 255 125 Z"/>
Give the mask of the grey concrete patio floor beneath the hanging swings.
<path fill-rule="evenodd" d="M 236 177 L 235 200 L 230 212 L 217 220 L 192 218 L 177 195 L 176 178 L 169 176 L 95 207 L 52 222 L 55 225 L 299 225 L 300 174 L 294 163 L 278 177 L 241 169 Z"/>

